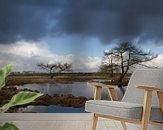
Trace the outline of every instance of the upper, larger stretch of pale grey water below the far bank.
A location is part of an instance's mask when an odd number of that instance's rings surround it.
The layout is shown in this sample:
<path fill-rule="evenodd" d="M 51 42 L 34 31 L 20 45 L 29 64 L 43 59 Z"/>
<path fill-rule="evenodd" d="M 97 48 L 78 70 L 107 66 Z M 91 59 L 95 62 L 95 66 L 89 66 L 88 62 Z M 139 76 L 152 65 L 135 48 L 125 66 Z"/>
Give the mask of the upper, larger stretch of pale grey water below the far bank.
<path fill-rule="evenodd" d="M 31 90 L 38 90 L 41 93 L 54 95 L 54 94 L 72 94 L 74 96 L 85 96 L 87 98 L 92 98 L 94 89 L 87 85 L 87 82 L 74 82 L 71 84 L 26 84 L 23 86 L 18 86 L 18 89 L 28 88 Z M 102 98 L 107 99 L 108 91 L 103 89 Z"/>

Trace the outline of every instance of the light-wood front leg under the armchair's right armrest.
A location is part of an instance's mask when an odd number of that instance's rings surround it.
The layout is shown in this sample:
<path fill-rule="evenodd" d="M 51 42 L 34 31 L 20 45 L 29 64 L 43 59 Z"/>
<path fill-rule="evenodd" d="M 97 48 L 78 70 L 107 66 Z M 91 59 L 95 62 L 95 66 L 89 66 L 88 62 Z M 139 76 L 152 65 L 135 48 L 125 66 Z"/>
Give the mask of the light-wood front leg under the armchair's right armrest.
<path fill-rule="evenodd" d="M 150 119 L 151 102 L 152 102 L 152 91 L 145 91 L 141 130 L 147 130 Z"/>

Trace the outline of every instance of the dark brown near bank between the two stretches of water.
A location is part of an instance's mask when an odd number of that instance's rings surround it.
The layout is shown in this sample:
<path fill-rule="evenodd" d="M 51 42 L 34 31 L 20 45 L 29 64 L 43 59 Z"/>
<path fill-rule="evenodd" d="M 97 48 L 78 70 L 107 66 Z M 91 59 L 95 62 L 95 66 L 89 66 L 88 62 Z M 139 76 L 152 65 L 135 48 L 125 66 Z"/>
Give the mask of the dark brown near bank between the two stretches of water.
<path fill-rule="evenodd" d="M 13 95 L 20 91 L 31 91 L 30 89 L 17 89 L 15 87 L 10 87 L 10 88 L 4 88 L 0 91 L 0 106 L 3 106 L 12 98 Z M 35 91 L 38 92 L 38 91 Z M 34 105 L 34 106 L 49 106 L 49 105 L 61 105 L 65 107 L 74 107 L 74 108 L 80 108 L 84 107 L 85 102 L 87 100 L 90 100 L 92 98 L 87 98 L 84 96 L 73 96 L 71 94 L 63 95 L 63 94 L 54 94 L 52 96 L 48 94 L 44 94 L 43 96 L 37 98 L 34 102 L 26 104 L 26 105 L 21 105 L 21 106 L 16 106 L 12 107 L 8 110 L 9 113 L 13 112 L 18 112 L 18 109 L 20 107 L 27 107 L 29 105 Z"/>

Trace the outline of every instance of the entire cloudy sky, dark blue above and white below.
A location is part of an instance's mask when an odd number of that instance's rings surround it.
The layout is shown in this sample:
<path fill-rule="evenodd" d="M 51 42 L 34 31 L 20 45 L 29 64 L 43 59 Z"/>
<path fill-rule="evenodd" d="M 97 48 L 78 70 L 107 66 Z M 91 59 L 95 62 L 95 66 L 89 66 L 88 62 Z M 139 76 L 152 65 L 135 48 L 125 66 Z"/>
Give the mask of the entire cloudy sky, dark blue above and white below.
<path fill-rule="evenodd" d="M 152 64 L 163 67 L 162 24 L 162 0 L 0 0 L 0 67 L 72 62 L 96 71 L 121 41 L 158 54 Z"/>

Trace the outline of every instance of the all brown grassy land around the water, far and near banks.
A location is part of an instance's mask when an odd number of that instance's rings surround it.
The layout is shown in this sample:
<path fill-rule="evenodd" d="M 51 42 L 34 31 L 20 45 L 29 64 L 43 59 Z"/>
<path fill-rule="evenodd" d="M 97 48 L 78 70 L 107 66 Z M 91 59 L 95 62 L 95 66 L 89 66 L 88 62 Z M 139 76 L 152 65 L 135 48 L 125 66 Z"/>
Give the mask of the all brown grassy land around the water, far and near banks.
<path fill-rule="evenodd" d="M 103 80 L 104 83 L 116 85 L 116 79 L 118 74 L 114 77 L 108 76 L 108 74 L 94 74 L 94 73 L 75 73 L 75 74 L 57 74 L 53 78 L 51 78 L 50 74 L 14 74 L 9 75 L 6 78 L 6 86 L 7 88 L 3 88 L 0 91 L 0 106 L 4 105 L 11 99 L 11 97 L 18 93 L 19 91 L 32 91 L 30 89 L 17 89 L 14 85 L 24 85 L 24 84 L 43 84 L 43 83 L 61 83 L 61 84 L 68 84 L 73 82 L 88 82 L 93 80 Z M 130 75 L 125 78 L 124 85 L 128 83 Z M 105 82 L 107 81 L 107 82 Z M 38 91 L 36 91 L 38 92 Z M 17 106 L 9 109 L 8 112 L 18 112 L 20 107 L 27 107 L 29 105 L 42 105 L 42 106 L 49 106 L 49 105 L 61 105 L 65 107 L 74 107 L 80 108 L 84 107 L 85 102 L 93 98 L 87 98 L 84 96 L 73 96 L 73 95 L 61 95 L 61 94 L 54 94 L 52 96 L 48 94 L 44 94 L 42 97 L 39 97 L 27 105 Z"/>

